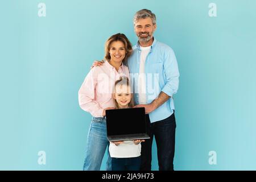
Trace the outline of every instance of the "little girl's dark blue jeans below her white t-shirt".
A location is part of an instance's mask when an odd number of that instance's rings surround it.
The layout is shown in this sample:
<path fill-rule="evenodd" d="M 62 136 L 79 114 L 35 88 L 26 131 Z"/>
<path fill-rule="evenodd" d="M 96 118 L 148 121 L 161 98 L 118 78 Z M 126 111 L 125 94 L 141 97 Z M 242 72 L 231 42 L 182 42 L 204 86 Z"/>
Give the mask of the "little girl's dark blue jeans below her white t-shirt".
<path fill-rule="evenodd" d="M 113 171 L 139 171 L 141 156 L 137 158 L 112 158 Z"/>

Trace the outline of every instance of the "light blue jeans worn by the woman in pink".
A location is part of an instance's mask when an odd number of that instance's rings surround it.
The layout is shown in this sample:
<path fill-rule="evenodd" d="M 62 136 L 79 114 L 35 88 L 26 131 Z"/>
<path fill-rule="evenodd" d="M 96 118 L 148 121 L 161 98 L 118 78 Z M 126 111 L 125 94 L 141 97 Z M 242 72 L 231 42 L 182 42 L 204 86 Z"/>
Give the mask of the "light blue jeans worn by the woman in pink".
<path fill-rule="evenodd" d="M 84 171 L 100 171 L 105 151 L 109 149 L 109 140 L 106 135 L 106 119 L 92 118 L 87 138 Z M 111 171 L 111 158 L 108 150 L 106 171 Z"/>

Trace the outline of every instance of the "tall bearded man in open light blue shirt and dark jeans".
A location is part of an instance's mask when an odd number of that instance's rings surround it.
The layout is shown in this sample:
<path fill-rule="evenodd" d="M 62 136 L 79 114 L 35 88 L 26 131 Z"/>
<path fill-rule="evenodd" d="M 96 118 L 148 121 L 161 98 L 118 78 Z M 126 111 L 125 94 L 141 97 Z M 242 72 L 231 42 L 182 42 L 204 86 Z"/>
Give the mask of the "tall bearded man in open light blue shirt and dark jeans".
<path fill-rule="evenodd" d="M 150 10 L 134 15 L 138 43 L 127 61 L 133 83 L 135 107 L 145 107 L 147 133 L 142 142 L 141 170 L 151 170 L 152 140 L 155 136 L 159 171 L 174 170 L 175 130 L 173 95 L 179 87 L 179 69 L 174 51 L 153 34 L 156 16 Z M 100 62 L 93 65 L 101 65 Z"/>

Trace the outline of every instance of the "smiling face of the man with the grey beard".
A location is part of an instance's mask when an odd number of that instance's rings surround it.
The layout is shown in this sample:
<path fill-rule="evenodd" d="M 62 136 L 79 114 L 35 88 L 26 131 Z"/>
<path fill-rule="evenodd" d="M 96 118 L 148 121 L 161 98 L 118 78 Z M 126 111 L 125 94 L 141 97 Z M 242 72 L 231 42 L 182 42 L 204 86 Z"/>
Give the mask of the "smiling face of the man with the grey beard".
<path fill-rule="evenodd" d="M 134 31 L 140 42 L 148 42 L 153 37 L 156 24 L 153 25 L 151 18 L 141 18 L 134 25 Z"/>

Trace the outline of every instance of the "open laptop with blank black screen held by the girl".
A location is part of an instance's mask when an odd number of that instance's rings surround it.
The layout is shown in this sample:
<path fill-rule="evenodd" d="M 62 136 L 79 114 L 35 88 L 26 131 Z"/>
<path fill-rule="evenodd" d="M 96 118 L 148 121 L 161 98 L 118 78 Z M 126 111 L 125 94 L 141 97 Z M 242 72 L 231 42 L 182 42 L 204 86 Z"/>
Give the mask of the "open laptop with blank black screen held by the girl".
<path fill-rule="evenodd" d="M 106 128 L 110 142 L 150 138 L 144 107 L 106 110 Z"/>

